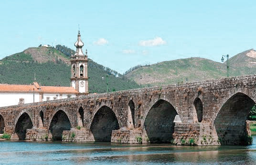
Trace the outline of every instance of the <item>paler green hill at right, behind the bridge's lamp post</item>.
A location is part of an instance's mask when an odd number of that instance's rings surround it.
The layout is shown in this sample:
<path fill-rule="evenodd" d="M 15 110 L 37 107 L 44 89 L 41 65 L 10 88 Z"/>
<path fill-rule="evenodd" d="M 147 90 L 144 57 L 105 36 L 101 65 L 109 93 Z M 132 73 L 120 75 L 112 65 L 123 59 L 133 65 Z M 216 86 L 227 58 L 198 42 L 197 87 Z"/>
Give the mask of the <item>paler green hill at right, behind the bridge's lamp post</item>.
<path fill-rule="evenodd" d="M 230 76 L 256 73 L 256 51 L 241 52 L 229 59 Z M 198 82 L 226 76 L 226 62 L 203 58 L 187 58 L 134 67 L 125 76 L 142 85 Z"/>

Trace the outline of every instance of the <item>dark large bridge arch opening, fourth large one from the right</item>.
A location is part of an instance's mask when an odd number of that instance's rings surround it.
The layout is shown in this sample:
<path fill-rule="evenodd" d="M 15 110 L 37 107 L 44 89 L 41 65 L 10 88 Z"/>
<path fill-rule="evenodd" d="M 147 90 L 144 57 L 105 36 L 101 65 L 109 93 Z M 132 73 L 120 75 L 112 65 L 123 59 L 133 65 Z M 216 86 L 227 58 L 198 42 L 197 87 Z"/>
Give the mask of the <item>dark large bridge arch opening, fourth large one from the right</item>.
<path fill-rule="evenodd" d="M 67 114 L 63 110 L 57 111 L 51 120 L 49 132 L 52 134 L 53 140 L 62 140 L 64 130 L 70 130 L 71 124 Z"/>

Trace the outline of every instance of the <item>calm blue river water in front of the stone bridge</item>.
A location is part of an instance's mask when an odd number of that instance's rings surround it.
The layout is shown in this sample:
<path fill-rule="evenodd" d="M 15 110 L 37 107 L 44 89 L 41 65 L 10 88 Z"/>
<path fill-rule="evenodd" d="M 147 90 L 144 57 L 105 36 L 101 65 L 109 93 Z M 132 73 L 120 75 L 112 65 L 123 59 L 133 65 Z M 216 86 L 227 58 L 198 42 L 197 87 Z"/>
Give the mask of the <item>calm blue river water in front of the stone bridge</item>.
<path fill-rule="evenodd" d="M 250 146 L 0 142 L 0 164 L 255 164 Z"/>

